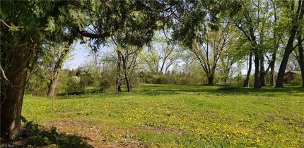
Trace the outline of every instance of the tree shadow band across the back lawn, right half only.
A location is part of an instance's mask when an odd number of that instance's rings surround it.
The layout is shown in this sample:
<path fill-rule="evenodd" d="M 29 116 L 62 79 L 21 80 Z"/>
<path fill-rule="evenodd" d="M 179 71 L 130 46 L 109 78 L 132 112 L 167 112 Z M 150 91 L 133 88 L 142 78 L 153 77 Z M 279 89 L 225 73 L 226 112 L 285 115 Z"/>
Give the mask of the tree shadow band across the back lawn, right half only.
<path fill-rule="evenodd" d="M 277 96 L 288 94 L 291 96 L 304 96 L 304 88 L 300 86 L 286 86 L 285 88 L 274 88 L 270 86 L 262 87 L 261 89 L 243 88 L 235 86 L 182 86 L 182 85 L 148 85 L 141 89 L 145 95 L 158 96 L 180 93 L 209 93 L 216 95 L 230 94 L 254 94 L 258 96 Z"/>

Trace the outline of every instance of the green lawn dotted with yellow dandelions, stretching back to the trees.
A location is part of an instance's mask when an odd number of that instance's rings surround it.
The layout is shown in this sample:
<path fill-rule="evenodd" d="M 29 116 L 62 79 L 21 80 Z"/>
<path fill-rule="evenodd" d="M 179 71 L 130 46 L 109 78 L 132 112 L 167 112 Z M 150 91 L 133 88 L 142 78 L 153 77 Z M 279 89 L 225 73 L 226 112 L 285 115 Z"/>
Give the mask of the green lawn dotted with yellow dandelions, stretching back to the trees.
<path fill-rule="evenodd" d="M 23 116 L 93 147 L 304 147 L 304 89 L 143 84 L 130 93 L 25 96 Z"/>

